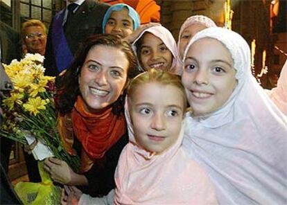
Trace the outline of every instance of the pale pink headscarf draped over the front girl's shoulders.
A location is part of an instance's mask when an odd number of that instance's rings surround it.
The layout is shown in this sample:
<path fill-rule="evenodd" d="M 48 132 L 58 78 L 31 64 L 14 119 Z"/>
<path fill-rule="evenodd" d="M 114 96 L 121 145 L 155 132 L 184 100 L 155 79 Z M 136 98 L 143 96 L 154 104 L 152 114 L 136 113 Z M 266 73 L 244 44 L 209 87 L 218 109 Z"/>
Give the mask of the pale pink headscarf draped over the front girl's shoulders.
<path fill-rule="evenodd" d="M 162 154 L 154 154 L 140 148 L 134 139 L 128 100 L 125 117 L 130 142 L 116 168 L 114 204 L 217 204 L 206 172 L 181 147 L 184 126 L 175 144 Z"/>

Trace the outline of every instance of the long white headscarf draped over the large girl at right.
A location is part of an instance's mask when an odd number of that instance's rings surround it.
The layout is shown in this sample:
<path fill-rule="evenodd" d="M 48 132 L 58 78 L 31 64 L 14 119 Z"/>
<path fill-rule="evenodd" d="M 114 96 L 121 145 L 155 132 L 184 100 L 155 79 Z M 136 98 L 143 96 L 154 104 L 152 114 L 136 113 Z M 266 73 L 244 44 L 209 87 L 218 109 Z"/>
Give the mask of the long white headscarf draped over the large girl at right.
<path fill-rule="evenodd" d="M 186 115 L 183 146 L 207 170 L 219 204 L 286 204 L 286 116 L 253 77 L 250 47 L 238 33 L 202 30 L 189 42 L 184 59 L 193 42 L 205 37 L 229 50 L 238 84 L 213 114 Z"/>

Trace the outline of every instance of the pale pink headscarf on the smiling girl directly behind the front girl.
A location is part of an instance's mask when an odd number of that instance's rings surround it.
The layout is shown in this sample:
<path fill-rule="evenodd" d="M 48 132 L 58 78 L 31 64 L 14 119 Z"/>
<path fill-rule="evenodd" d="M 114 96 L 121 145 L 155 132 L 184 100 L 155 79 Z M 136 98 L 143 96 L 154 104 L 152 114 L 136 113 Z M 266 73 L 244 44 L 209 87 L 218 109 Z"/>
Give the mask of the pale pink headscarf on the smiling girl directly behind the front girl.
<path fill-rule="evenodd" d="M 166 45 L 171 54 L 173 55 L 173 62 L 171 64 L 170 72 L 180 75 L 182 73 L 182 68 L 180 64 L 180 57 L 178 55 L 177 46 L 173 35 L 169 30 L 167 30 L 164 26 L 152 26 L 143 30 L 137 39 L 132 42 L 132 46 L 134 49 L 136 48 L 137 41 L 143 36 L 144 33 L 151 33 L 162 40 L 162 42 Z M 137 53 L 137 51 L 135 52 Z M 143 70 L 143 69 L 141 69 Z"/>

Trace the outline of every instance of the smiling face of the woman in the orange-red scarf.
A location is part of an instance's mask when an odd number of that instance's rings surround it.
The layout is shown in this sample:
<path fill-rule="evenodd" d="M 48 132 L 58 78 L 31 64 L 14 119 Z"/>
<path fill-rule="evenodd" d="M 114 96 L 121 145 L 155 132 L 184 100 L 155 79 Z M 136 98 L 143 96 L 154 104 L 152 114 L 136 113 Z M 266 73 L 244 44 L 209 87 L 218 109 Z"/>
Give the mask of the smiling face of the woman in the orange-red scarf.
<path fill-rule="evenodd" d="M 128 58 L 119 48 L 96 45 L 89 50 L 78 78 L 87 111 L 97 112 L 119 98 L 127 81 L 128 66 Z"/>

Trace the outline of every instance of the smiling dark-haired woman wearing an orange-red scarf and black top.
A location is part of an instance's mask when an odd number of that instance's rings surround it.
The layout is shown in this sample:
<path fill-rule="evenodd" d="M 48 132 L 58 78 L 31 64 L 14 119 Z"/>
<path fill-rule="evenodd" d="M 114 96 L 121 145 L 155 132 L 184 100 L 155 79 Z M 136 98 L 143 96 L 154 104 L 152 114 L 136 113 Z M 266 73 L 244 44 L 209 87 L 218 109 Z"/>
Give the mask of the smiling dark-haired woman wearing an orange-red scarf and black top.
<path fill-rule="evenodd" d="M 127 42 L 94 35 L 83 42 L 60 79 L 58 129 L 64 147 L 80 156 L 78 173 L 65 161 L 49 158 L 44 169 L 60 184 L 78 186 L 94 197 L 114 188 L 114 170 L 128 143 L 123 115 L 125 88 L 137 75 L 136 59 Z"/>

